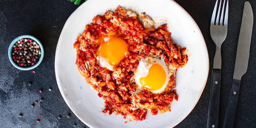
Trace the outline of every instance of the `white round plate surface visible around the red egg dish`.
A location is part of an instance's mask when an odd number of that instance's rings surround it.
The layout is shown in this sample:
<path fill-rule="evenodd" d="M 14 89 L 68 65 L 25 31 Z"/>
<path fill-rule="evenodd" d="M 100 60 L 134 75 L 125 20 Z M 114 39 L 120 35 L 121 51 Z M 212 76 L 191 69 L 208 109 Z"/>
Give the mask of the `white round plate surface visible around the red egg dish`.
<path fill-rule="evenodd" d="M 90 88 L 77 70 L 73 44 L 94 16 L 102 15 L 118 5 L 137 13 L 146 12 L 157 23 L 168 23 L 172 39 L 190 51 L 189 61 L 177 71 L 178 101 L 171 104 L 172 112 L 132 121 L 115 114 L 102 113 L 104 102 Z M 209 58 L 204 38 L 195 21 L 172 0 L 87 0 L 68 18 L 61 32 L 55 56 L 55 74 L 65 102 L 76 116 L 91 128 L 170 128 L 181 122 L 195 107 L 207 81 Z"/>

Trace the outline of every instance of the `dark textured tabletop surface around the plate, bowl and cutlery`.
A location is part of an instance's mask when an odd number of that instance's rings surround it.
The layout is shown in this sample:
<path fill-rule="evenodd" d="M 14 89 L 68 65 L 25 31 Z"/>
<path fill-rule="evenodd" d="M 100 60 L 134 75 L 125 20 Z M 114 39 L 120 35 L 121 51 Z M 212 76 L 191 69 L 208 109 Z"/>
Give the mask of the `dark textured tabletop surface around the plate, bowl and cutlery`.
<path fill-rule="evenodd" d="M 209 34 L 209 23 L 215 0 L 175 0 L 195 20 L 204 35 L 210 61 L 210 72 L 204 92 L 193 109 L 176 128 L 205 128 L 209 106 L 210 81 L 215 44 Z M 230 0 L 227 38 L 222 45 L 220 124 L 223 123 L 229 90 L 235 67 L 242 11 L 246 0 Z M 256 13 L 256 0 L 249 0 Z M 156 0 L 157 2 L 157 0 Z M 82 0 L 81 3 L 84 3 Z M 79 6 L 67 0 L 0 0 L 0 127 L 1 128 L 68 128 L 84 125 L 68 108 L 55 80 L 54 58 L 58 37 L 67 18 Z M 255 18 L 254 18 L 255 21 Z M 254 22 L 255 23 L 255 22 Z M 45 49 L 42 63 L 30 71 L 17 70 L 8 59 L 10 42 L 20 35 L 33 35 Z M 256 29 L 253 27 L 250 60 L 247 73 L 241 79 L 235 128 L 256 127 Z M 200 50 L 200 49 L 198 49 Z M 28 86 L 32 81 L 33 85 Z M 51 87 L 52 91 L 48 91 Z M 44 89 L 40 94 L 39 89 Z M 35 100 L 45 100 L 31 108 Z M 22 118 L 18 118 L 23 113 Z M 68 119 L 66 116 L 71 113 Z M 42 115 L 41 122 L 36 119 Z M 61 115 L 63 118 L 58 120 Z"/>

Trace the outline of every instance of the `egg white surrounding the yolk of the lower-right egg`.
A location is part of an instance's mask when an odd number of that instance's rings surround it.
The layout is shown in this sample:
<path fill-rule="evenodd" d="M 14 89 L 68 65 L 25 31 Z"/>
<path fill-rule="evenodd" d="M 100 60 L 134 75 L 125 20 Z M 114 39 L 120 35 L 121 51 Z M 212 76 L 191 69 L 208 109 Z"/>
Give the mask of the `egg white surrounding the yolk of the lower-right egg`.
<path fill-rule="evenodd" d="M 137 68 L 137 71 L 135 73 L 134 80 L 139 87 L 142 87 L 142 84 L 140 83 L 140 78 L 148 76 L 148 71 L 153 64 L 159 64 L 163 67 L 163 70 L 166 73 L 166 81 L 160 89 L 148 90 L 148 91 L 150 91 L 151 93 L 162 93 L 168 84 L 170 75 L 172 75 L 170 74 L 171 72 L 169 73 L 169 69 L 166 66 L 166 63 L 164 62 L 163 59 L 152 58 L 152 57 L 141 59 L 139 66 Z"/>

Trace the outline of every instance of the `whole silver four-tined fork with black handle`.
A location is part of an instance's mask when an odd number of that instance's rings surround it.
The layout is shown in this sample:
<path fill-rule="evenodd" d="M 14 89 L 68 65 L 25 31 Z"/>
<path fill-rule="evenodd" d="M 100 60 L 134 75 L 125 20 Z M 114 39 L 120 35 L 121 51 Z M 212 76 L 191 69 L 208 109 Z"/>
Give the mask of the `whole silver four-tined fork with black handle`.
<path fill-rule="evenodd" d="M 216 45 L 216 52 L 215 52 L 215 57 L 213 61 L 212 84 L 211 84 L 211 92 L 210 92 L 210 100 L 209 100 L 207 128 L 218 128 L 220 86 L 221 86 L 221 44 L 224 42 L 224 40 L 227 37 L 228 0 L 227 0 L 227 4 L 225 4 L 225 0 L 224 0 L 221 14 L 220 14 L 220 10 L 221 10 L 221 0 L 220 0 L 219 7 L 218 7 L 218 14 L 216 17 L 217 6 L 218 6 L 218 0 L 215 3 L 215 7 L 212 13 L 211 26 L 210 26 L 210 34 L 211 34 L 212 40 Z M 224 9 L 226 9 L 225 15 L 224 15 Z"/>

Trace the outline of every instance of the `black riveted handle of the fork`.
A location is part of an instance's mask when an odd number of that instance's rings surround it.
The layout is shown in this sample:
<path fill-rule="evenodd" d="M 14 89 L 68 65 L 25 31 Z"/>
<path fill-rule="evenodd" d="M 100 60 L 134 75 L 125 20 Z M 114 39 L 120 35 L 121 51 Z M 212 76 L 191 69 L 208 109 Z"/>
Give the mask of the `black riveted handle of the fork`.
<path fill-rule="evenodd" d="M 207 128 L 218 128 L 218 116 L 220 108 L 221 70 L 212 70 L 212 85 L 209 101 Z"/>

